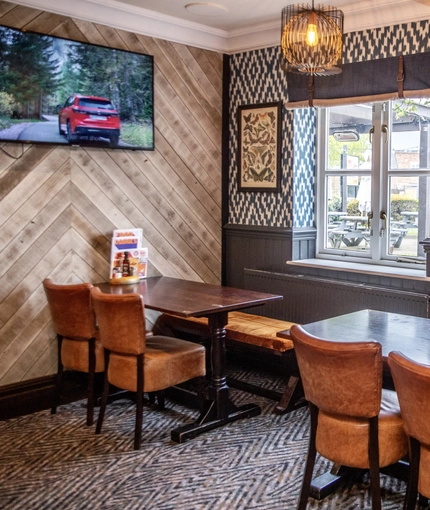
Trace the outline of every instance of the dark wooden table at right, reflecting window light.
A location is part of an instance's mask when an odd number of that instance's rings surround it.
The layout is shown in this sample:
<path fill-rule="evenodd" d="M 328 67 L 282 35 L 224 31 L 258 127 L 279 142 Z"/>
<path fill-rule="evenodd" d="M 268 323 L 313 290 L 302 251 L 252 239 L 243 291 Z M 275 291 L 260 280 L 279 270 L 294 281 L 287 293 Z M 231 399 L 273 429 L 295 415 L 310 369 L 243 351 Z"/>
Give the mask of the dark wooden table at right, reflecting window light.
<path fill-rule="evenodd" d="M 393 389 L 388 354 L 401 351 L 409 358 L 430 365 L 430 319 L 377 310 L 357 312 L 330 317 L 304 324 L 307 333 L 332 342 L 378 342 L 382 347 L 384 361 L 384 386 Z M 281 338 L 289 338 L 289 332 L 279 332 Z M 399 462 L 386 469 L 393 476 L 405 479 L 408 465 Z M 381 471 L 384 471 L 381 470 Z M 323 499 L 332 493 L 348 472 L 344 466 L 333 465 L 332 469 L 312 480 L 311 496 Z"/>

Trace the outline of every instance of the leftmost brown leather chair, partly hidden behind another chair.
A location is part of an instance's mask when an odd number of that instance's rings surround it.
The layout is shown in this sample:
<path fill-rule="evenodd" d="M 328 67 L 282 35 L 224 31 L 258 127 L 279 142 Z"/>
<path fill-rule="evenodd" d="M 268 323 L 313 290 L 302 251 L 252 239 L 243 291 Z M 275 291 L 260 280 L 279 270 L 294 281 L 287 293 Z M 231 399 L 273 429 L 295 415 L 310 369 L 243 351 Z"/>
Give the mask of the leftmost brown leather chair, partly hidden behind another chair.
<path fill-rule="evenodd" d="M 94 421 L 94 374 L 103 372 L 103 349 L 91 305 L 90 283 L 57 285 L 49 278 L 43 287 L 58 340 L 58 369 L 51 413 L 60 405 L 63 370 L 88 373 L 87 425 Z"/>

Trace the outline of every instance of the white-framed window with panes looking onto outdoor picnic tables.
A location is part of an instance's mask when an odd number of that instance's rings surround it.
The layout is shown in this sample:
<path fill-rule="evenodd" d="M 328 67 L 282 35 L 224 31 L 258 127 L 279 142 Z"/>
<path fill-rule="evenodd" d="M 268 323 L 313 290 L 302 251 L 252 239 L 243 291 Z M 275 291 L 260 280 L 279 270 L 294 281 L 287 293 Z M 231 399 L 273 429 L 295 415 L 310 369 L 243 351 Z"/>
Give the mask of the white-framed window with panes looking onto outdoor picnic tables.
<path fill-rule="evenodd" d="M 319 110 L 318 256 L 425 268 L 429 126 L 426 100 Z"/>

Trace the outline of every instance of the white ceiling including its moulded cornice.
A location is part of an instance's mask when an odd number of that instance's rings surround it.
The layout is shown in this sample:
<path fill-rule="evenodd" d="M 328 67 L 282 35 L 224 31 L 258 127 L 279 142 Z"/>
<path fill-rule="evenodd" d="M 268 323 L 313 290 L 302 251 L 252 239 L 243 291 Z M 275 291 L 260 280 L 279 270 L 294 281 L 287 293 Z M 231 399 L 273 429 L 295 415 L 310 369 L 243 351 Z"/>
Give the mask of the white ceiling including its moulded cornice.
<path fill-rule="evenodd" d="M 16 3 L 223 53 L 275 46 L 291 0 L 15 0 Z M 311 2 L 309 2 L 311 3 Z M 430 19 L 430 0 L 328 0 L 353 32 Z M 188 6 L 188 7 L 186 7 Z"/>

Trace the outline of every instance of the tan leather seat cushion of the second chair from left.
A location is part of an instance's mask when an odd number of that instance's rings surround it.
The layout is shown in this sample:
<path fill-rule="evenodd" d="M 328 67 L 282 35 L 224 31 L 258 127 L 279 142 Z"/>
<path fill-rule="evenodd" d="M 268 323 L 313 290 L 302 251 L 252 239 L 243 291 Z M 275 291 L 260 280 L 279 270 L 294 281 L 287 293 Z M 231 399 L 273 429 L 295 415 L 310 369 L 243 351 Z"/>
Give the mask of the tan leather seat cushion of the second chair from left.
<path fill-rule="evenodd" d="M 160 391 L 206 374 L 206 349 L 197 343 L 153 336 L 146 342 L 144 356 L 144 392 Z M 137 391 L 137 357 L 111 352 L 108 379 L 118 388 Z"/>

